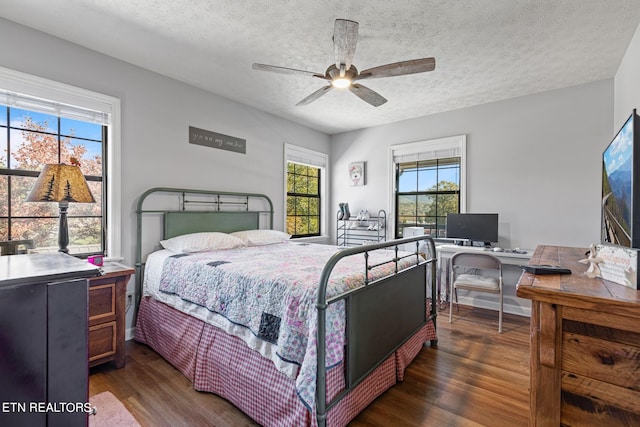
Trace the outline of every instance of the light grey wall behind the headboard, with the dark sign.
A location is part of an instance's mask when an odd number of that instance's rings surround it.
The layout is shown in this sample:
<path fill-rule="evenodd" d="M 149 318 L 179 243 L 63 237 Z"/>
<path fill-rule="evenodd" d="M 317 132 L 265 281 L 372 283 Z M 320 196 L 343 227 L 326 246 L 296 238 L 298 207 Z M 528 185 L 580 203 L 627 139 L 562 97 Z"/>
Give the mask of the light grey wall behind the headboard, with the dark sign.
<path fill-rule="evenodd" d="M 148 188 L 264 193 L 274 203 L 274 226 L 282 229 L 284 143 L 329 153 L 323 133 L 4 19 L 0 40 L 2 67 L 122 100 L 122 252 L 128 265 L 135 262 L 136 201 Z M 189 144 L 189 126 L 244 138 L 247 154 Z"/>

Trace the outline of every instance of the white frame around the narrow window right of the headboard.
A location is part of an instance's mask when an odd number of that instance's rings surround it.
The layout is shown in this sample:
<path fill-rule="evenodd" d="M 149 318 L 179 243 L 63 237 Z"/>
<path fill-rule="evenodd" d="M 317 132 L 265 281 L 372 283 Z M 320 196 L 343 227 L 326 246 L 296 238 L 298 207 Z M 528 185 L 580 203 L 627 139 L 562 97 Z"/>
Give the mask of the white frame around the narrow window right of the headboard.
<path fill-rule="evenodd" d="M 329 155 L 297 145 L 284 144 L 284 206 L 283 224 L 287 227 L 287 163 L 293 162 L 319 168 L 320 171 L 320 236 L 300 237 L 296 241 L 324 241 L 329 238 L 327 206 L 329 199 Z"/>

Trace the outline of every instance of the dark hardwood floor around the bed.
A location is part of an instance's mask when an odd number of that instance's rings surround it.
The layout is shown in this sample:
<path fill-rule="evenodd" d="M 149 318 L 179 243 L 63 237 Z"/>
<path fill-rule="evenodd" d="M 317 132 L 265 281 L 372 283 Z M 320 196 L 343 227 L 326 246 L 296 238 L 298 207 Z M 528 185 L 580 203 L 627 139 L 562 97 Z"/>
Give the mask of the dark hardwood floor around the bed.
<path fill-rule="evenodd" d="M 455 308 L 454 308 L 455 310 Z M 424 347 L 405 380 L 350 426 L 527 426 L 529 318 L 460 306 L 438 318 L 438 346 Z M 195 391 L 153 350 L 127 342 L 127 364 L 92 368 L 89 395 L 111 391 L 143 426 L 255 426 L 233 405 Z"/>

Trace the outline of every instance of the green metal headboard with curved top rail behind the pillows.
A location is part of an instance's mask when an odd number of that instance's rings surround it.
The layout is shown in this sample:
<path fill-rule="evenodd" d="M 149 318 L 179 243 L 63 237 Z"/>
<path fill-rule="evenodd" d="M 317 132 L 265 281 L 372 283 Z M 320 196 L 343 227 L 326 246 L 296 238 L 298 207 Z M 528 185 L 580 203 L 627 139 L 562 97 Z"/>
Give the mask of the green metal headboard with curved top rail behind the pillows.
<path fill-rule="evenodd" d="M 171 209 L 146 209 L 145 201 L 154 196 L 166 197 L 163 199 L 165 203 L 177 203 Z M 145 191 L 138 199 L 136 208 L 136 311 L 142 298 L 142 227 L 143 217 L 147 214 L 163 216 L 163 235 L 158 241 L 205 231 L 231 233 L 253 230 L 265 224 L 269 229 L 273 228 L 273 203 L 264 194 L 164 187 Z"/>

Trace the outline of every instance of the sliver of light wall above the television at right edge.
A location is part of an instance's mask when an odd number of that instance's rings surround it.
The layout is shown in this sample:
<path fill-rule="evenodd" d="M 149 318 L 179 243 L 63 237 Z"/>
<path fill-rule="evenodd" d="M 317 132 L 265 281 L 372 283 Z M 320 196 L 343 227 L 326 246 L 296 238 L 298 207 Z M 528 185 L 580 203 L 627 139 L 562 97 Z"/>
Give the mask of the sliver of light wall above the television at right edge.
<path fill-rule="evenodd" d="M 631 114 L 640 114 L 640 25 L 627 47 L 614 79 L 613 131 L 617 132 Z M 613 138 L 612 134 L 612 138 Z"/>

